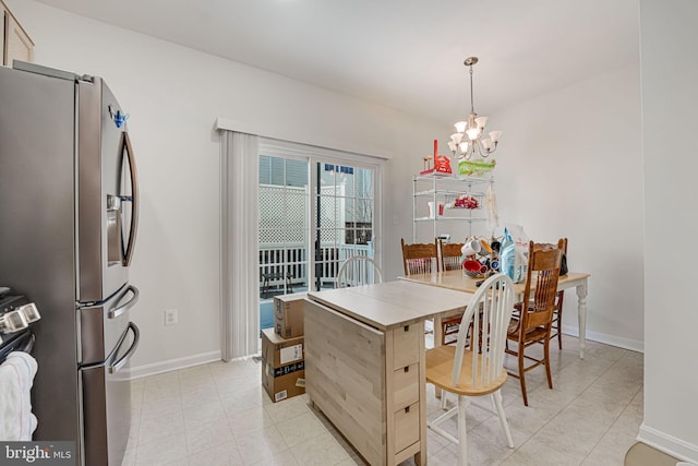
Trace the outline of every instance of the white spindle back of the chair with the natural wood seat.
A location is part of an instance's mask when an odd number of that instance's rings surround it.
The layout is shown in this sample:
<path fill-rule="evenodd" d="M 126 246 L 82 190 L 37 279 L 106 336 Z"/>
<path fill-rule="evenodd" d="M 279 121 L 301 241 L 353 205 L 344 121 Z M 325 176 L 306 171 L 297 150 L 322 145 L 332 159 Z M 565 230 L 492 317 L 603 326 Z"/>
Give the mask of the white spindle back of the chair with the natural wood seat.
<path fill-rule="evenodd" d="M 457 385 L 460 378 L 471 321 L 470 351 L 473 387 L 490 385 L 501 375 L 504 367 L 506 332 L 513 307 L 514 283 L 505 274 L 491 276 L 478 288 L 460 321 L 452 373 L 453 385 Z"/>

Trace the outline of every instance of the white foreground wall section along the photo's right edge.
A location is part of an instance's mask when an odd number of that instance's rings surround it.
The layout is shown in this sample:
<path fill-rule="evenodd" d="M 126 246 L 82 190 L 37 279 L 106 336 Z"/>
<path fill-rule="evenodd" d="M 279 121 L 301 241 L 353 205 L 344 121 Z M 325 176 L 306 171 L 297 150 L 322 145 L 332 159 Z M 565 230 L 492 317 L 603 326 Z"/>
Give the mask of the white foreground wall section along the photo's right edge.
<path fill-rule="evenodd" d="M 647 247 L 639 438 L 698 463 L 698 3 L 640 0 L 640 19 Z M 675 246 L 667 252 L 663 244 Z"/>

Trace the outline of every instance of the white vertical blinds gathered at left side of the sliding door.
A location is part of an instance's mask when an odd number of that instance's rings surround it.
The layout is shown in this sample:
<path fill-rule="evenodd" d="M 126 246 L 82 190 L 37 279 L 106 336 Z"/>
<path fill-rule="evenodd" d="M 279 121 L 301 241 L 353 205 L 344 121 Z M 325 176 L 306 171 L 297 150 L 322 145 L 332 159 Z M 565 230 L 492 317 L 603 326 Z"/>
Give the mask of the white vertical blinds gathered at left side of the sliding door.
<path fill-rule="evenodd" d="M 229 361 L 258 351 L 258 138 L 221 131 L 221 355 Z"/>

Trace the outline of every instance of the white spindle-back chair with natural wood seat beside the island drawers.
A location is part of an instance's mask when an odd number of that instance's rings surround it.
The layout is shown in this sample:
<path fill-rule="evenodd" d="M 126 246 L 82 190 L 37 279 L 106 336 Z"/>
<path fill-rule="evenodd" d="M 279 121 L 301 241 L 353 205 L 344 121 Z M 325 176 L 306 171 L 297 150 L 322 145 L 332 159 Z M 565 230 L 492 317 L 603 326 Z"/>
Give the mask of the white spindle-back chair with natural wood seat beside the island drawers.
<path fill-rule="evenodd" d="M 458 395 L 455 407 L 438 416 L 428 427 L 458 445 L 458 464 L 468 464 L 466 406 L 468 398 L 491 395 L 494 411 L 504 430 L 507 445 L 514 440 L 502 406 L 501 389 L 506 382 L 504 349 L 514 306 L 514 284 L 505 274 L 488 278 L 472 295 L 460 322 L 456 346 L 437 346 L 426 351 L 426 382 Z M 468 327 L 482 328 L 480 338 L 468 338 Z M 469 347 L 466 346 L 469 344 Z M 445 393 L 442 395 L 445 396 Z M 458 438 L 441 423 L 458 416 Z"/>

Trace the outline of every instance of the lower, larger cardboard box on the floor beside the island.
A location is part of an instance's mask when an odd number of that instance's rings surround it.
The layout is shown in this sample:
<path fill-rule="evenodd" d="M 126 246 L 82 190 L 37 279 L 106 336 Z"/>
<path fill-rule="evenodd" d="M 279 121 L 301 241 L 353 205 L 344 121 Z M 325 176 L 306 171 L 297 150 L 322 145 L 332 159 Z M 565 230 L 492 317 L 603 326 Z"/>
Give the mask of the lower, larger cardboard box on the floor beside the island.
<path fill-rule="evenodd" d="M 262 385 L 274 403 L 305 393 L 303 337 L 281 338 L 262 331 Z"/>

